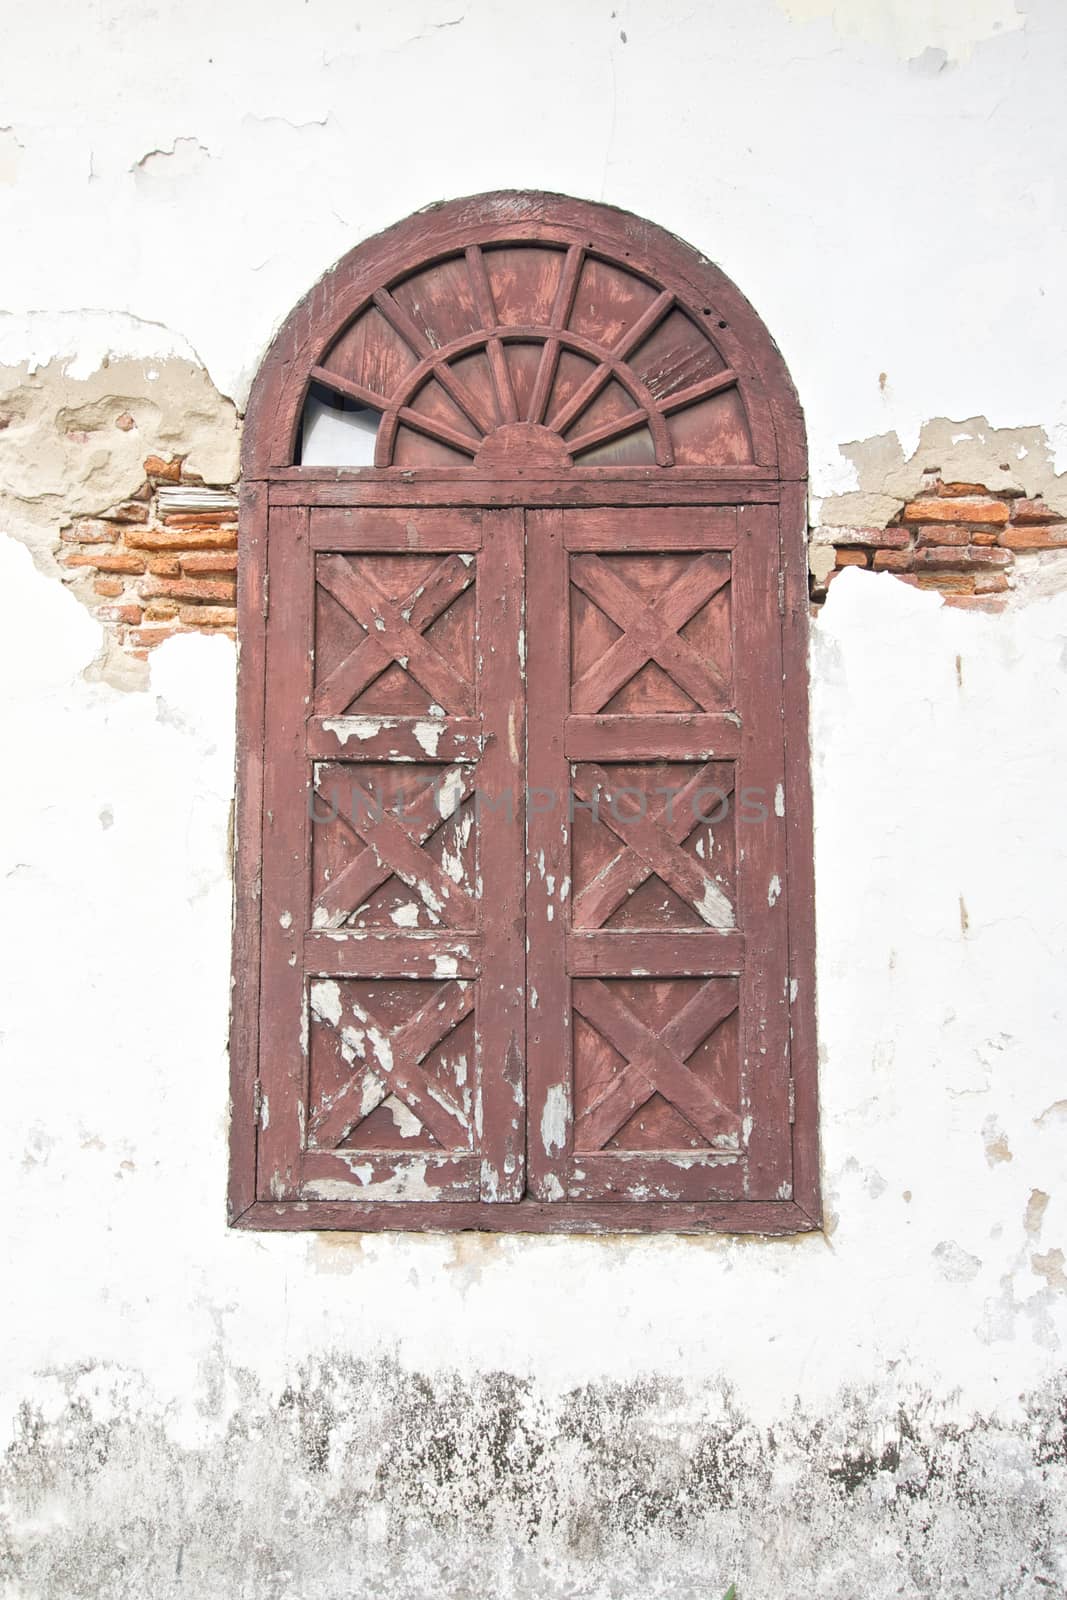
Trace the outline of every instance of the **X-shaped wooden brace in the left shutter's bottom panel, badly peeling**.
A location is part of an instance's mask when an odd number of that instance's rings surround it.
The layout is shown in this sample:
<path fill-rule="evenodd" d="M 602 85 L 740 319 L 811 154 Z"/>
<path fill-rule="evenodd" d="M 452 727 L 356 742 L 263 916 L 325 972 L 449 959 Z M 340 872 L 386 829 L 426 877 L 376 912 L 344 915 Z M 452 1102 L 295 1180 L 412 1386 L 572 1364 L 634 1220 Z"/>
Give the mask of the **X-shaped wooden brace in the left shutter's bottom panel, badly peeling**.
<path fill-rule="evenodd" d="M 347 1010 L 352 1019 L 342 1016 L 339 1024 L 318 1011 L 315 1016 L 358 1056 L 365 1075 L 352 1072 L 336 1094 L 323 1096 L 312 1110 L 309 1138 L 320 1149 L 338 1149 L 357 1123 L 395 1094 L 443 1149 L 466 1146 L 467 1118 L 440 1083 L 430 1086 L 422 1062 L 474 1011 L 474 986 L 462 981 L 443 984 L 400 1027 L 386 1027 L 360 1002 L 349 1000 Z"/>

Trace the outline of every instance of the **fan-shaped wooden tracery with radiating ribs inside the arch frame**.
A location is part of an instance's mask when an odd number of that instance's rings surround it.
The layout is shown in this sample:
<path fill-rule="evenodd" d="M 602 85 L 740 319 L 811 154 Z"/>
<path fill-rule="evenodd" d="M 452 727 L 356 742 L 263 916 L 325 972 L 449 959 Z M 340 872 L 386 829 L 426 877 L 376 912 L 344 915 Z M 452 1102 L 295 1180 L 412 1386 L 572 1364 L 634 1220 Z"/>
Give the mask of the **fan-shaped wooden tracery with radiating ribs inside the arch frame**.
<path fill-rule="evenodd" d="M 752 462 L 705 314 L 581 245 L 469 245 L 374 291 L 312 368 L 381 414 L 374 466 Z"/>

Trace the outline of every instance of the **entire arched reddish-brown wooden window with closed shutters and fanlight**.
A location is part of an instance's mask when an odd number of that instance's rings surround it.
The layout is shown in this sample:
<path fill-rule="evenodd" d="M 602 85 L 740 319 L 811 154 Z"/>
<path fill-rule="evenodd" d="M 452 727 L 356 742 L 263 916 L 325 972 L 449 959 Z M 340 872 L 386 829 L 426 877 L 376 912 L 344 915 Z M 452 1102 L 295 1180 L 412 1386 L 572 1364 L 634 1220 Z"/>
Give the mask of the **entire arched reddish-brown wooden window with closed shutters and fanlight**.
<path fill-rule="evenodd" d="M 817 1226 L 805 438 L 605 206 L 419 213 L 293 312 L 240 534 L 230 1216 Z"/>

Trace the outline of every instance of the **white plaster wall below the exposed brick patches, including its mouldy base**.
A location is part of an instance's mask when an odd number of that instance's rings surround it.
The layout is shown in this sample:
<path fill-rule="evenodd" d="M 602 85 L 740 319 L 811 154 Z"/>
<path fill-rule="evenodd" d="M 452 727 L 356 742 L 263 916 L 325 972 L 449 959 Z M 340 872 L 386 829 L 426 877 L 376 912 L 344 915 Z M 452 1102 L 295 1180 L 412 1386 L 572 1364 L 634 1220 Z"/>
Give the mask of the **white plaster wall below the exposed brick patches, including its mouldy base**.
<path fill-rule="evenodd" d="M 86 682 L 0 563 L 5 1600 L 1062 1590 L 1065 597 L 816 622 L 825 1237 L 282 1238 L 222 1222 L 232 645 Z"/>

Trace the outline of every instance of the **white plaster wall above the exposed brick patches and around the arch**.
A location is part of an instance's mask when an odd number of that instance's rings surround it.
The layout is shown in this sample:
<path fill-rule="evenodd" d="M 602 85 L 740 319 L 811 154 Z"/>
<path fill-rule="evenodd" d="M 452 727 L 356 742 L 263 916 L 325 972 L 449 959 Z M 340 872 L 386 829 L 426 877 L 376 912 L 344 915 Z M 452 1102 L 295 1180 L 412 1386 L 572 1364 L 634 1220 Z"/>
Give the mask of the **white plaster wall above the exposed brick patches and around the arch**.
<path fill-rule="evenodd" d="M 841 442 L 929 416 L 1067 426 L 1061 0 L 5 10 L 0 304 L 163 323 L 238 402 L 354 242 L 542 187 L 744 288 L 821 494 L 851 482 Z"/>

